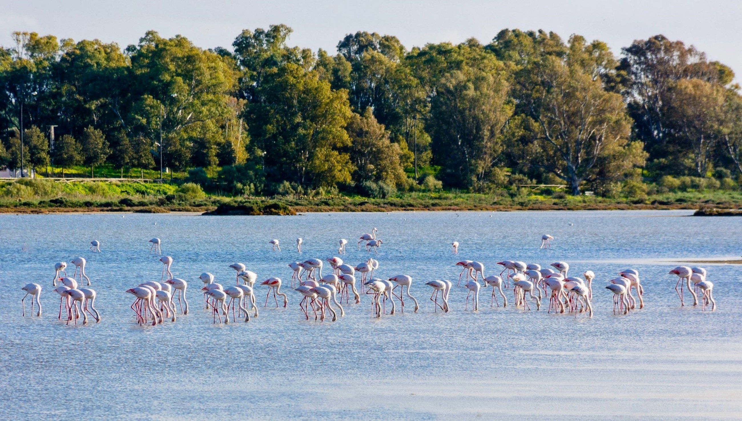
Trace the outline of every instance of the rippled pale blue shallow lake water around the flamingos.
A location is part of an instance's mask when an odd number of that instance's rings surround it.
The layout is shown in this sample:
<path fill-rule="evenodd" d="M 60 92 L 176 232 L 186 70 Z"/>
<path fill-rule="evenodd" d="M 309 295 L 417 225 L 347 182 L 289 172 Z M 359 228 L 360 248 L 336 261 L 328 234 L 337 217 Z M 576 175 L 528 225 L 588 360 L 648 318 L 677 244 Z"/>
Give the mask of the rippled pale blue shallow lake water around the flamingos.
<path fill-rule="evenodd" d="M 740 419 L 742 266 L 703 264 L 714 312 L 681 308 L 667 272 L 673 259 L 740 256 L 742 218 L 689 213 L 0 215 L 0 419 Z M 286 264 L 336 256 L 345 238 L 341 258 L 356 265 L 369 257 L 358 236 L 374 227 L 375 276 L 413 276 L 419 311 L 406 300 L 404 314 L 375 319 L 362 295 L 337 322 L 306 321 Z M 539 250 L 543 233 L 551 249 Z M 139 326 L 124 291 L 160 280 L 152 237 L 188 281 L 191 311 Z M 271 251 L 274 238 L 283 251 Z M 88 250 L 93 239 L 102 253 Z M 56 317 L 53 264 L 76 256 L 88 260 L 100 323 Z M 463 288 L 451 291 L 450 313 L 434 313 L 424 282 L 456 284 L 462 259 L 483 262 L 485 275 L 502 259 L 592 270 L 594 317 L 547 314 L 548 299 L 540 311 L 490 308 L 489 290 L 479 311 L 464 311 Z M 234 262 L 258 274 L 260 316 L 214 325 L 196 277 L 234 285 Z M 604 287 L 626 268 L 640 271 L 646 307 L 614 315 Z M 270 276 L 283 279 L 287 308 L 262 307 L 258 283 Z M 21 315 L 27 282 L 42 285 L 40 318 Z"/>

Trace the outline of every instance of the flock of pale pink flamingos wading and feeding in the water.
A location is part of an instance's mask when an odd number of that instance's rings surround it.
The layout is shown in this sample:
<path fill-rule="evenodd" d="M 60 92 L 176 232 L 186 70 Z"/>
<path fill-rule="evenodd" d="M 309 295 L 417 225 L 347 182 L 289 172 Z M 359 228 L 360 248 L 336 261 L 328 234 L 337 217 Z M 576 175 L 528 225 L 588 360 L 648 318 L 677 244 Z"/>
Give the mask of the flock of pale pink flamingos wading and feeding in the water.
<path fill-rule="evenodd" d="M 381 246 L 381 239 L 376 237 L 378 230 L 373 228 L 371 233 L 364 233 L 358 238 L 358 250 L 361 250 L 362 243 L 365 242 L 366 250 L 372 249 L 377 252 Z M 551 240 L 554 237 L 548 234 L 542 236 L 540 248 L 551 248 Z M 149 240 L 151 243 L 150 252 L 162 254 L 161 241 L 158 238 Z M 296 240 L 296 248 L 301 253 L 303 240 Z M 278 239 L 272 239 L 269 242 L 273 251 L 280 251 Z M 346 253 L 346 239 L 339 241 L 340 247 L 338 254 Z M 451 243 L 453 253 L 459 253 L 459 242 Z M 91 242 L 92 252 L 100 252 L 100 242 L 93 240 Z M 169 318 L 171 322 L 176 321 L 176 314 L 188 314 L 188 300 L 185 298 L 185 291 L 188 288 L 188 282 L 184 279 L 174 278 L 171 272 L 173 258 L 171 256 L 162 256 L 162 274 L 160 282 L 148 281 L 129 288 L 125 292 L 136 297 L 131 304 L 131 309 L 137 316 L 139 325 L 150 324 L 157 325 Z M 405 298 L 408 302 L 413 302 L 413 311 L 417 312 L 420 308 L 417 299 L 410 294 L 410 287 L 413 285 L 413 278 L 409 275 L 396 275 L 388 279 L 379 279 L 373 277 L 374 271 L 378 270 L 378 260 L 370 258 L 366 262 L 358 265 L 349 265 L 338 256 L 326 259 L 332 268 L 331 274 L 322 275 L 323 261 L 321 259 L 307 259 L 303 262 L 291 262 L 288 264 L 292 270 L 289 288 L 296 291 L 301 300 L 299 308 L 305 319 L 309 319 L 309 312 L 312 312 L 315 320 L 323 321 L 326 317 L 331 316 L 332 321 L 336 321 L 339 316 L 345 315 L 342 302 L 345 299 L 346 305 L 350 302 L 358 304 L 361 302 L 361 294 L 370 295 L 371 314 L 374 317 L 381 317 L 387 314 L 387 303 L 390 305 L 390 315 L 395 314 L 397 308 L 404 312 Z M 66 323 L 77 324 L 78 319 L 82 317 L 82 324 L 88 323 L 90 314 L 96 322 L 100 322 L 101 317 L 94 304 L 96 291 L 92 288 L 78 288 L 85 279 L 86 286 L 91 285 L 91 280 L 85 274 L 85 259 L 76 257 L 70 260 L 75 266 L 73 276 L 68 276 L 66 262 L 58 262 L 54 265 L 55 274 L 52 285 L 56 288 L 53 290 L 59 294 L 59 316 L 62 319 L 62 313 L 65 314 Z M 529 301 L 536 305 L 536 310 L 541 308 L 542 297 L 549 296 L 549 306 L 547 313 L 574 313 L 585 314 L 588 317 L 593 316 L 593 307 L 591 299 L 593 297 L 592 282 L 595 277 L 593 271 L 585 271 L 582 277 L 568 276 L 569 265 L 567 262 L 551 263 L 550 268 L 542 268 L 540 265 L 511 260 L 497 262 L 502 266 L 499 275 L 485 276 L 485 265 L 482 262 L 473 262 L 471 260 L 462 260 L 456 263 L 461 266 L 462 271 L 459 273 L 459 279 L 456 282 L 456 288 L 467 290 L 464 310 L 468 310 L 470 305 L 473 311 L 479 311 L 479 292 L 482 288 L 491 287 L 490 290 L 490 308 L 499 307 L 502 298 L 502 307 L 508 306 L 508 298 L 505 296 L 503 288 L 513 289 L 513 302 L 515 308 L 522 310 L 531 310 Z M 230 312 L 232 313 L 232 322 L 237 319 L 243 319 L 249 322 L 250 312 L 253 317 L 258 316 L 257 305 L 255 304 L 254 285 L 257 280 L 257 274 L 249 271 L 243 263 L 234 263 L 229 268 L 236 272 L 235 285 L 224 287 L 220 283 L 214 282 L 214 275 L 208 272 L 200 274 L 197 277 L 203 287 L 203 308 L 211 312 L 212 322 L 229 323 Z M 60 276 L 64 274 L 64 276 Z M 79 274 L 79 275 L 78 275 Z M 716 310 L 716 302 L 713 297 L 713 282 L 706 279 L 706 269 L 689 268 L 687 266 L 678 266 L 669 271 L 669 274 L 677 276 L 675 291 L 680 298 L 680 305 L 685 305 L 684 291 L 687 291 L 693 297 L 693 305 L 699 303 L 702 311 L 711 305 L 711 311 Z M 356 288 L 356 277 L 360 276 L 359 288 Z M 79 277 L 79 280 L 78 280 Z M 462 279 L 463 277 L 463 279 Z M 481 278 L 481 279 L 480 279 Z M 480 284 L 481 280 L 481 284 Z M 242 281 L 240 283 L 240 281 Z M 684 281 L 684 282 L 683 282 Z M 57 286 L 59 282 L 59 286 Z M 512 285 L 511 285 L 512 284 Z M 691 285 L 693 284 L 693 285 Z M 266 307 L 272 294 L 275 306 L 279 307 L 278 296 L 283 301 L 283 307 L 289 304 L 289 297 L 280 291 L 282 282 L 278 277 L 270 277 L 261 282 L 260 285 L 268 287 L 266 300 L 263 307 Z M 453 282 L 446 279 L 435 279 L 425 282 L 425 285 L 432 288 L 430 301 L 433 302 L 433 311 L 439 309 L 444 313 L 450 311 L 449 294 L 454 288 Z M 399 288 L 399 291 L 396 291 Z M 605 286 L 613 295 L 613 313 L 628 314 L 637 308 L 637 299 L 639 308 L 644 308 L 644 288 L 640 282 L 639 272 L 634 269 L 621 271 L 618 276 L 611 279 Z M 41 316 L 41 291 L 42 286 L 36 283 L 29 283 L 21 288 L 26 294 L 21 299 L 23 307 L 23 316 L 25 316 L 25 299 L 31 296 L 30 312 L 33 315 L 33 306 L 36 304 L 36 316 Z M 636 297 L 632 294 L 636 292 Z M 352 299 L 350 294 L 352 293 Z M 543 294 L 542 294 L 543 293 Z M 339 297 L 339 299 L 338 299 Z M 175 299 L 177 298 L 177 305 Z M 439 302 L 440 299 L 440 302 Z M 396 305 L 395 300 L 398 302 Z M 471 304 L 470 304 L 471 301 Z M 250 309 L 246 305 L 250 305 Z M 333 308 L 334 305 L 334 308 Z M 223 316 L 223 319 L 222 319 Z"/>

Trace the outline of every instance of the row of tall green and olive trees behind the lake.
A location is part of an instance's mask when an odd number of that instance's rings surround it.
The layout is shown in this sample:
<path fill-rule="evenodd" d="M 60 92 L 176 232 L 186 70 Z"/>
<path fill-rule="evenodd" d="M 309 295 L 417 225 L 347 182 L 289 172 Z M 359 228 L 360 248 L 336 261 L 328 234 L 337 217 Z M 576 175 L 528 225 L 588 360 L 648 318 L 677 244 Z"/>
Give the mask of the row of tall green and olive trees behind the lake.
<path fill-rule="evenodd" d="M 0 165 L 23 156 L 33 168 L 123 172 L 162 159 L 195 180 L 220 168 L 220 188 L 251 195 L 383 196 L 441 182 L 607 194 L 742 173 L 732 69 L 661 35 L 615 55 L 542 30 L 410 50 L 358 32 L 332 54 L 289 47 L 291 33 L 243 30 L 213 49 L 154 31 L 124 49 L 14 33 L 0 48 Z"/>

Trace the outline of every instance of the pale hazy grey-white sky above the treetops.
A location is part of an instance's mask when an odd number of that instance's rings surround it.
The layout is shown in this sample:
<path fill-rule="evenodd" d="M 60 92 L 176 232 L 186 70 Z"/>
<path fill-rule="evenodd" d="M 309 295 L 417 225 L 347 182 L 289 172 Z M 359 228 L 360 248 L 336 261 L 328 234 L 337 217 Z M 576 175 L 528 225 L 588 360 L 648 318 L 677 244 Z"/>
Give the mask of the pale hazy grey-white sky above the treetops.
<path fill-rule="evenodd" d="M 0 44 L 14 30 L 101 39 L 125 47 L 146 30 L 181 34 L 201 47 L 231 47 L 244 28 L 288 24 L 289 44 L 335 52 L 347 33 L 395 35 L 408 48 L 427 42 L 489 42 L 503 28 L 544 29 L 567 39 L 601 39 L 614 53 L 662 33 L 706 51 L 742 74 L 742 1 L 247 1 L 0 0 Z M 739 79 L 739 78 L 738 78 Z"/>

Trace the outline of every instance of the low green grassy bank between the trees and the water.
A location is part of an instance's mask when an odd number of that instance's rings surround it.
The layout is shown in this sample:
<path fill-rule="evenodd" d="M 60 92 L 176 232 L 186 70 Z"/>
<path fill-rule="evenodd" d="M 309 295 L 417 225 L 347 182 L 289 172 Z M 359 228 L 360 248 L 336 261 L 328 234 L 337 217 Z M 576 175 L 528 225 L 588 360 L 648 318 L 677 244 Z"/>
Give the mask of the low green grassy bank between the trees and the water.
<path fill-rule="evenodd" d="M 569 196 L 564 193 L 501 190 L 493 194 L 398 193 L 367 198 L 345 195 L 220 196 L 197 185 L 139 182 L 53 182 L 24 179 L 0 182 L 1 213 L 53 212 L 211 212 L 214 214 L 293 214 L 296 212 L 382 211 L 550 211 L 621 209 L 738 209 L 739 191 L 683 191 L 640 198 Z"/>

